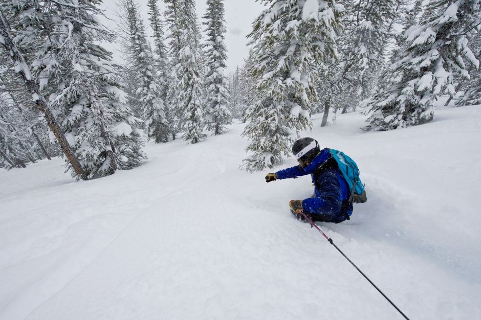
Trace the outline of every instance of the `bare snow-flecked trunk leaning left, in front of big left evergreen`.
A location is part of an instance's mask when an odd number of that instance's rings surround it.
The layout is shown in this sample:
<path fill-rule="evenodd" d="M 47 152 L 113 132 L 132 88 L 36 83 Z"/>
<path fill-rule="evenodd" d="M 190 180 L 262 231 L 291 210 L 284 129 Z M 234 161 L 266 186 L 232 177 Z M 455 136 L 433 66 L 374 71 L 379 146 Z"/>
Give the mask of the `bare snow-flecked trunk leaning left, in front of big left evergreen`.
<path fill-rule="evenodd" d="M 40 89 L 37 86 L 37 83 L 33 80 L 27 62 L 25 61 L 24 55 L 13 43 L 9 30 L 10 28 L 7 24 L 7 20 L 5 19 L 3 12 L 0 11 L 0 38 L 2 38 L 0 44 L 3 45 L 7 53 L 10 55 L 13 63 L 15 63 L 15 65 L 17 66 L 18 73 L 20 74 L 21 79 L 23 79 L 29 93 L 33 97 L 35 105 L 43 113 L 43 116 L 45 117 L 45 120 L 47 121 L 50 130 L 52 130 L 53 134 L 55 135 L 55 138 L 57 139 L 60 148 L 62 148 L 63 153 L 69 160 L 75 173 L 79 178 L 83 180 L 88 179 L 88 176 L 82 169 L 77 156 L 73 153 L 69 142 L 65 138 L 65 134 L 55 120 L 52 111 L 49 109 L 45 97 L 42 96 L 42 94 L 40 93 Z"/>

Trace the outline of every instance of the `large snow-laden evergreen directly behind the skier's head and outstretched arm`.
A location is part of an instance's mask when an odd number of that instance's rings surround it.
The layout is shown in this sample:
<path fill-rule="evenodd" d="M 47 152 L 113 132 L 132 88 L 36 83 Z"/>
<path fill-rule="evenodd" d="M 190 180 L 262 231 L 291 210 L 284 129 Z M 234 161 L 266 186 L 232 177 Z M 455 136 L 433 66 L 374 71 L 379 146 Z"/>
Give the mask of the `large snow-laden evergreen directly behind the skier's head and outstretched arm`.
<path fill-rule="evenodd" d="M 269 6 L 254 21 L 250 75 L 256 102 L 247 109 L 248 171 L 273 168 L 290 154 L 296 133 L 311 126 L 316 101 L 316 63 L 336 56 L 335 34 L 342 10 L 333 1 L 264 0 Z M 294 132 L 292 132 L 294 130 Z"/>

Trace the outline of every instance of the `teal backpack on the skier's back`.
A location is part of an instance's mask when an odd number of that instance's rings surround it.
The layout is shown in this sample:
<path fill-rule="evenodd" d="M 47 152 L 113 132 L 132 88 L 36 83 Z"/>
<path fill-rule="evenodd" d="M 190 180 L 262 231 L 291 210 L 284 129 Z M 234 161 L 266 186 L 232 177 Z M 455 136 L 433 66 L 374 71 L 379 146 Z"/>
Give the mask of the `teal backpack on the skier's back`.
<path fill-rule="evenodd" d="M 342 176 L 346 180 L 347 186 L 351 191 L 348 201 L 355 203 L 366 202 L 366 191 L 364 190 L 364 185 L 359 177 L 359 168 L 356 162 L 342 151 L 335 149 L 329 149 L 329 151 L 331 152 L 331 156 L 337 162 L 339 171 L 341 171 Z"/>

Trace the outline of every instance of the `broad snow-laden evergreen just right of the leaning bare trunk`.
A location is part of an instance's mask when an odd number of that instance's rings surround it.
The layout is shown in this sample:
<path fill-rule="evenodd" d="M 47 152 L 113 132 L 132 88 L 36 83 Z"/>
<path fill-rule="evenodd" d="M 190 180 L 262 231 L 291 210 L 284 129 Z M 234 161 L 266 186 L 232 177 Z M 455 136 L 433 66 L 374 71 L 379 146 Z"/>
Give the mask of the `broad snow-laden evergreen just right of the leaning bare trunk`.
<path fill-rule="evenodd" d="M 39 57 L 39 77 L 51 78 L 49 86 L 55 84 L 50 95 L 56 96 L 53 106 L 69 106 L 62 124 L 90 178 L 112 174 L 117 168 L 133 168 L 144 158 L 140 122 L 124 104 L 112 54 L 96 44 L 99 40 L 112 42 L 114 35 L 95 18 L 100 11 L 94 4 L 57 6 L 57 14 L 65 18 L 54 27 L 55 36 L 50 35 L 52 45 Z M 61 70 L 59 78 L 50 74 L 51 52 L 67 71 Z"/>

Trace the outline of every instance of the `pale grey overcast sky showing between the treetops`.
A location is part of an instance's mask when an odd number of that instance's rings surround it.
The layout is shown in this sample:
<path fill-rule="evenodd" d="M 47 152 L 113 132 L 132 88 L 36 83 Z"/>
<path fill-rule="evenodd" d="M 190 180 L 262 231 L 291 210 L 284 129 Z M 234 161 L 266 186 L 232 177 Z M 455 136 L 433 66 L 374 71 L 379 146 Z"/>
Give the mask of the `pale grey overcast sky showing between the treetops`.
<path fill-rule="evenodd" d="M 144 18 L 146 26 L 148 26 L 147 20 L 147 0 L 134 0 L 140 4 L 141 14 Z M 108 18 L 113 21 L 106 21 L 105 25 L 111 29 L 115 29 L 115 2 L 116 0 L 104 0 L 102 9 L 105 9 L 105 14 Z M 158 1 L 159 9 L 161 11 L 162 17 L 164 13 L 164 2 L 162 0 Z M 252 22 L 263 10 L 263 6 L 256 2 L 255 0 L 224 0 L 225 6 L 225 20 L 226 20 L 226 47 L 227 47 L 227 73 L 233 71 L 235 66 L 242 66 L 244 64 L 244 58 L 248 55 L 247 48 L 247 34 L 251 31 Z M 205 14 L 207 9 L 206 0 L 196 0 L 196 10 L 199 18 Z M 163 19 L 164 20 L 164 19 Z M 204 26 L 203 26 L 204 27 Z M 148 29 L 150 34 L 150 27 Z M 116 47 L 110 48 L 116 51 Z M 116 58 L 120 55 L 117 53 Z"/>

